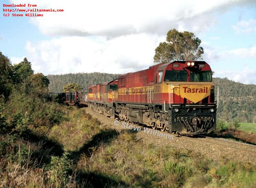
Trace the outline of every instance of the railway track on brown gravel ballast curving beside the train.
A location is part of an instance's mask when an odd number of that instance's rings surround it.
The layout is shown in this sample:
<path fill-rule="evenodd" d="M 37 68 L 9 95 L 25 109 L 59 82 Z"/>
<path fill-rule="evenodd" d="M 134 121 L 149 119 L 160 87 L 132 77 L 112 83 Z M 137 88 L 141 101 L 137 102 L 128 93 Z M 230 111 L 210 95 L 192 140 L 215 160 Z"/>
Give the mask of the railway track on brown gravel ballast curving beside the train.
<path fill-rule="evenodd" d="M 104 126 L 107 127 L 112 127 L 114 126 L 113 118 L 108 118 L 105 115 L 102 115 L 98 112 L 92 111 L 88 108 L 86 109 L 87 112 L 89 112 L 92 116 L 95 118 L 99 119 L 101 123 Z M 119 120 L 120 123 L 124 122 L 123 120 Z M 141 127 L 141 130 L 143 130 L 144 126 L 141 126 L 140 124 L 136 124 L 136 127 Z M 121 126 L 114 126 L 115 129 L 124 129 L 121 128 Z M 150 127 L 148 127 L 150 128 Z M 166 134 L 172 134 L 168 132 L 164 132 Z M 161 137 L 156 137 L 151 134 L 145 134 L 143 131 L 141 131 L 141 134 L 139 134 L 140 138 L 147 138 L 145 140 L 146 143 L 152 141 L 154 143 L 157 143 L 159 145 L 163 144 L 170 144 L 173 147 L 176 148 L 181 148 L 181 149 L 190 149 L 194 150 L 196 152 L 200 152 L 202 155 L 211 157 L 215 160 L 218 160 L 221 156 L 225 155 L 228 156 L 229 158 L 232 158 L 234 160 L 238 161 L 248 161 L 248 162 L 253 162 L 254 159 L 256 161 L 256 146 L 245 144 L 245 143 L 239 143 L 239 142 L 233 142 L 233 141 L 226 141 L 222 140 L 219 138 L 212 138 L 209 136 L 204 136 L 204 135 L 197 135 L 200 136 L 201 138 L 194 138 L 194 137 L 189 137 L 189 136 L 181 136 L 178 137 L 177 134 L 172 134 L 174 136 L 174 140 L 164 140 Z M 203 137 L 203 138 L 202 138 Z M 188 141 L 190 139 L 191 141 Z M 202 142 L 206 143 L 203 144 Z"/>

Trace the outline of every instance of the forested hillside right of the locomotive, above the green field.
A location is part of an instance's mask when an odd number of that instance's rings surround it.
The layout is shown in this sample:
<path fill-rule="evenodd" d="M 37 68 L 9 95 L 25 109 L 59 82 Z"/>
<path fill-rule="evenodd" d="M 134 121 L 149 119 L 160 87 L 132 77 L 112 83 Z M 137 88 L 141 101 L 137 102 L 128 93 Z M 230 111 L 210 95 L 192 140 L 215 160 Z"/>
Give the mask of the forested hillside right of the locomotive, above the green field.
<path fill-rule="evenodd" d="M 231 121 L 237 118 L 240 122 L 256 122 L 256 85 L 237 83 L 227 78 L 214 78 L 213 82 L 220 89 L 219 119 Z"/>

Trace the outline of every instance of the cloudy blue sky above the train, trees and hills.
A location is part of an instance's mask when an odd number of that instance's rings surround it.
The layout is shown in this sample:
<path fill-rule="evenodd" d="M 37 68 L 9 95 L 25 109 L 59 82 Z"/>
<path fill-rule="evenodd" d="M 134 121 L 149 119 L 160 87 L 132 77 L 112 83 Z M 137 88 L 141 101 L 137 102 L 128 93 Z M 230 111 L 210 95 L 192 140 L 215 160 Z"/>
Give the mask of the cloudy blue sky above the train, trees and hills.
<path fill-rule="evenodd" d="M 3 16 L 8 13 L 3 9 L 10 9 L 3 4 L 32 9 L 29 3 L 64 11 Z M 147 69 L 154 64 L 155 48 L 175 28 L 202 40 L 203 61 L 210 64 L 213 77 L 256 84 L 256 0 L 3 0 L 0 6 L 0 51 L 12 64 L 27 57 L 35 73 Z"/>

